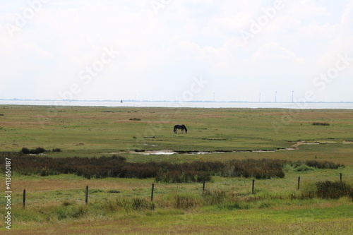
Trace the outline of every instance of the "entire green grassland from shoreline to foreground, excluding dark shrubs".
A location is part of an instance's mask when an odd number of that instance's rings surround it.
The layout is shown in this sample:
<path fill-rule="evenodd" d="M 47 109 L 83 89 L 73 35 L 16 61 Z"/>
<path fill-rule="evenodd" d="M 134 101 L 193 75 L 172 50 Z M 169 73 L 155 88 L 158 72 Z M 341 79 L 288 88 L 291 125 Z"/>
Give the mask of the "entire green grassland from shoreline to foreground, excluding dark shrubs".
<path fill-rule="evenodd" d="M 287 166 L 283 179 L 256 180 L 254 194 L 252 179 L 244 178 L 213 176 L 204 195 L 201 183 L 155 183 L 152 207 L 155 179 L 24 176 L 13 169 L 13 227 L 8 231 L 1 223 L 1 234 L 353 233 L 352 198 L 301 196 L 318 181 L 339 180 L 340 173 L 352 186 L 352 110 L 0 106 L 0 114 L 0 152 L 44 147 L 61 149 L 46 153 L 55 158 L 119 155 L 128 162 L 174 163 L 271 158 L 345 164 L 340 169 Z M 185 124 L 188 133 L 173 133 L 174 124 Z M 177 153 L 152 154 L 161 150 Z M 85 186 L 90 187 L 88 205 Z M 4 188 L 5 182 L 1 198 Z M 28 201 L 23 210 L 24 188 Z M 1 206 L 1 217 L 3 213 Z"/>

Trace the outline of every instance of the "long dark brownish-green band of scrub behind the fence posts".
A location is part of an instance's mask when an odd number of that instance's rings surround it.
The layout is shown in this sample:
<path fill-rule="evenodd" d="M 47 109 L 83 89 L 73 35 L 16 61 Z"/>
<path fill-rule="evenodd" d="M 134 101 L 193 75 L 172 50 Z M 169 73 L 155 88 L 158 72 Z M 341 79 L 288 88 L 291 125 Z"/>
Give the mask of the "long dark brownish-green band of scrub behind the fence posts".
<path fill-rule="evenodd" d="M 43 150 L 42 148 L 37 148 Z M 36 150 L 37 150 L 36 149 Z M 23 152 L 23 150 L 22 150 Z M 39 151 L 42 152 L 42 151 Z M 284 167 L 294 169 L 305 167 L 318 169 L 337 169 L 344 167 L 333 162 L 291 162 L 280 159 L 243 159 L 228 162 L 126 162 L 125 157 L 42 157 L 8 153 L 13 160 L 13 169 L 18 174 L 42 176 L 55 174 L 76 174 L 91 178 L 155 178 L 157 182 L 183 183 L 210 181 L 211 176 L 244 177 L 271 179 L 285 177 Z M 6 154 L 2 153 L 6 156 Z"/>

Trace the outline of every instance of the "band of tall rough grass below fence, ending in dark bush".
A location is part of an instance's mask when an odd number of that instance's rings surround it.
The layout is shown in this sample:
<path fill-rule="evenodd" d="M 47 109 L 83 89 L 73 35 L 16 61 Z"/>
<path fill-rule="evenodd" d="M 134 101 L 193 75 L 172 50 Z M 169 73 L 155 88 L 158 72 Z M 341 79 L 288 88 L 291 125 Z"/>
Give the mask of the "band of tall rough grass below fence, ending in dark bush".
<path fill-rule="evenodd" d="M 14 214 L 16 215 L 17 222 L 57 222 L 61 220 L 83 219 L 85 217 L 102 217 L 117 212 L 128 214 L 131 212 L 155 210 L 179 210 L 178 213 L 184 214 L 184 211 L 201 210 L 202 207 L 219 212 L 263 209 L 276 205 L 309 205 L 317 203 L 317 200 L 330 200 L 342 197 L 347 197 L 350 201 L 353 200 L 352 186 L 339 181 L 320 181 L 307 185 L 302 191 L 289 194 L 265 193 L 252 195 L 251 193 L 246 193 L 238 195 L 232 191 L 206 190 L 202 195 L 196 195 L 195 193 L 170 193 L 153 200 L 153 202 L 150 201 L 150 198 L 141 197 L 116 197 L 104 200 L 92 200 L 88 205 L 79 203 L 76 200 L 64 200 L 57 205 L 49 205 L 47 207 L 27 207 L 26 210 L 16 207 Z"/>

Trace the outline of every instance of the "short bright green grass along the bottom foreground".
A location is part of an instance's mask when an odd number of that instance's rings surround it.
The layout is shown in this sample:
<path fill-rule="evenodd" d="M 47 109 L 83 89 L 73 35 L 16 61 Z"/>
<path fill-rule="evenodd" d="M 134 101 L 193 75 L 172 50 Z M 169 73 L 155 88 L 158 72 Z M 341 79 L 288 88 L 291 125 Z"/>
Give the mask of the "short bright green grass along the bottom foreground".
<path fill-rule="evenodd" d="M 328 204 L 330 203 L 330 204 Z M 277 204 L 277 207 L 273 205 Z M 297 200 L 283 205 L 271 201 L 238 204 L 226 209 L 219 206 L 196 210 L 140 208 L 124 206 L 119 211 L 114 203 L 88 206 L 67 202 L 59 207 L 47 207 L 37 213 L 18 209 L 21 217 L 31 222 L 19 222 L 16 234 L 350 234 L 353 205 L 339 200 Z M 125 206 L 126 207 L 126 206 Z M 103 210 L 102 210 L 103 209 Z M 16 209 L 17 210 L 17 209 Z M 33 221 L 33 217 L 36 221 Z M 42 219 L 39 219 L 42 217 Z M 101 219 L 99 219 L 101 218 Z M 103 219 L 109 218 L 109 219 Z M 43 221 L 44 220 L 44 221 Z M 52 221 L 52 222 L 50 222 Z M 17 221 L 16 221 L 17 222 Z M 65 227 L 62 224 L 66 224 Z"/>

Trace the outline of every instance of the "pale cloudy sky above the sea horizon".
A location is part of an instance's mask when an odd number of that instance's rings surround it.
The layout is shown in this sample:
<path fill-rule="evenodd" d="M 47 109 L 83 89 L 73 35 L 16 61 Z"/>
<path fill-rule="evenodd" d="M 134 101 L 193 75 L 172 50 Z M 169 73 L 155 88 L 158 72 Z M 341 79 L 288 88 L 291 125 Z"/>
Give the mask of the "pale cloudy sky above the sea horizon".
<path fill-rule="evenodd" d="M 353 0 L 0 0 L 0 99 L 353 102 Z"/>

